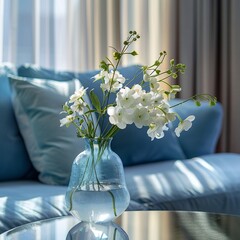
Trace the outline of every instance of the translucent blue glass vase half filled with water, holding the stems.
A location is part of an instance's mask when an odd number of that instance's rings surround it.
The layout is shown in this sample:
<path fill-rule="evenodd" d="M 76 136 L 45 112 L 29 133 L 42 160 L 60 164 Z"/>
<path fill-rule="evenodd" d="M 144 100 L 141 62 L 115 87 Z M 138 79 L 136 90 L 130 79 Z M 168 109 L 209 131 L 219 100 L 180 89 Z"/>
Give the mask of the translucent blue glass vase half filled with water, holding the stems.
<path fill-rule="evenodd" d="M 72 165 L 66 205 L 81 221 L 108 222 L 130 202 L 122 161 L 111 150 L 111 139 L 86 139 L 85 143 Z"/>

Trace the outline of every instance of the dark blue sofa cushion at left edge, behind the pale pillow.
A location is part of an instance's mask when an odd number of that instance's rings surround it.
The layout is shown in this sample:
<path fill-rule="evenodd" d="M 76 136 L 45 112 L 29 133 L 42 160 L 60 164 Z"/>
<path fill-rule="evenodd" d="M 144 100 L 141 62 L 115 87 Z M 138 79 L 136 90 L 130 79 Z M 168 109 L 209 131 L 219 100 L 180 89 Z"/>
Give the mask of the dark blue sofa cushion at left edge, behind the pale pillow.
<path fill-rule="evenodd" d="M 12 65 L 0 65 L 0 181 L 27 178 L 33 170 L 13 112 L 10 73 L 15 73 Z"/>

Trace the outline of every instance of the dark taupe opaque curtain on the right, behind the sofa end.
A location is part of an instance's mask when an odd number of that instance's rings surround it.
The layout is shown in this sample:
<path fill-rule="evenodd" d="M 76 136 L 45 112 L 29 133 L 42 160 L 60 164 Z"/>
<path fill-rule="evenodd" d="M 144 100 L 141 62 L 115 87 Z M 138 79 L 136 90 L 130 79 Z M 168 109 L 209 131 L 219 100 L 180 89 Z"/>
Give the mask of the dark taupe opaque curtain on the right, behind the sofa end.
<path fill-rule="evenodd" d="M 187 64 L 182 97 L 211 93 L 223 104 L 219 151 L 240 152 L 240 1 L 170 0 L 169 50 Z"/>

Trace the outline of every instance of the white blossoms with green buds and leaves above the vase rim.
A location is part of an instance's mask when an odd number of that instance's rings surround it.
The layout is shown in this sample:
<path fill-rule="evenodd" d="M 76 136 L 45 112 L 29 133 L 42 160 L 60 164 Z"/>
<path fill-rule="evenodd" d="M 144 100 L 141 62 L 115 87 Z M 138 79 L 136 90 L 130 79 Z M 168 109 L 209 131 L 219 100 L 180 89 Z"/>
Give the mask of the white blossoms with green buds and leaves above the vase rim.
<path fill-rule="evenodd" d="M 129 51 L 129 46 L 137 41 L 140 36 L 136 31 L 130 31 L 127 39 L 123 42 L 120 51 L 113 48 L 113 59 L 106 58 L 101 61 L 99 74 L 93 76 L 94 81 L 101 81 L 103 100 L 100 101 L 94 93 L 94 89 L 89 92 L 91 105 L 85 101 L 87 89 L 78 89 L 68 102 L 63 106 L 66 117 L 60 120 L 60 126 L 73 124 L 77 128 L 77 135 L 90 139 L 112 138 L 120 129 L 126 128 L 129 124 L 135 124 L 137 128 L 146 126 L 147 134 L 151 140 L 164 136 L 164 131 L 168 130 L 168 124 L 178 119 L 179 124 L 175 129 L 179 137 L 182 131 L 191 128 L 195 119 L 193 115 L 182 119 L 173 111 L 174 106 L 170 106 L 169 100 L 175 98 L 181 91 L 178 84 L 170 84 L 167 79 L 176 79 L 179 74 L 183 74 L 186 66 L 182 63 L 175 63 L 170 60 L 169 68 L 162 70 L 161 66 L 167 53 L 160 52 L 158 59 L 150 66 L 141 67 L 143 79 L 129 87 L 130 80 L 126 80 L 118 71 L 121 59 L 124 55 L 136 56 L 136 51 Z M 162 85 L 166 85 L 163 88 Z M 109 97 L 114 94 L 115 102 L 110 103 Z M 184 100 L 182 103 L 193 100 L 197 106 L 201 101 L 206 100 L 209 104 L 215 105 L 216 98 L 209 94 L 199 94 Z M 94 121 L 93 114 L 97 115 Z M 101 129 L 103 122 L 108 118 L 109 124 Z M 100 128 L 100 134 L 97 129 Z"/>

